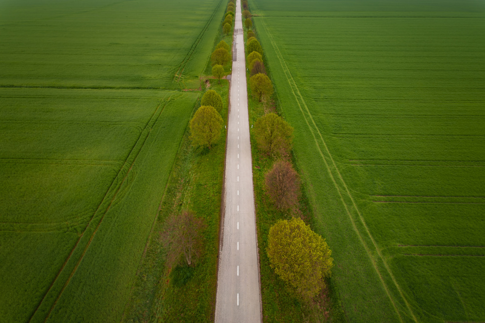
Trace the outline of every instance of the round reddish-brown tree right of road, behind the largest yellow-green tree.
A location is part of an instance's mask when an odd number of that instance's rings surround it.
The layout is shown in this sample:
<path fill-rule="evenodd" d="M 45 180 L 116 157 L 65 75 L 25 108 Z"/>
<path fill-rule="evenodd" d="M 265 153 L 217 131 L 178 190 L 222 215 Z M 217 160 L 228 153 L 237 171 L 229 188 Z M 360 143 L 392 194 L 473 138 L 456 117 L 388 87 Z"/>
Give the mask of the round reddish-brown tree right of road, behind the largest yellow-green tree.
<path fill-rule="evenodd" d="M 276 208 L 286 210 L 298 202 L 300 179 L 289 161 L 276 161 L 266 173 L 264 184 Z"/>

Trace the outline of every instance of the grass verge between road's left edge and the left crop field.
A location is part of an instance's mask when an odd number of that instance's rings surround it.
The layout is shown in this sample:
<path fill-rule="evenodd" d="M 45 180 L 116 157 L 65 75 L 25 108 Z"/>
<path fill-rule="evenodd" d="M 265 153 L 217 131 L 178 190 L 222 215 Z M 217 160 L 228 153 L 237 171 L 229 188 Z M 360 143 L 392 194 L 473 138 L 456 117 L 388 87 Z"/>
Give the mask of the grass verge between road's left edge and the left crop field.
<path fill-rule="evenodd" d="M 210 89 L 223 98 L 222 117 L 227 122 L 229 84 L 210 80 Z M 194 112 L 199 104 L 194 108 Z M 226 131 L 212 149 L 194 148 L 187 127 L 180 144 L 158 218 L 153 226 L 124 322 L 213 321 L 217 281 L 219 219 L 224 174 Z M 194 268 L 164 265 L 161 232 L 166 218 L 193 210 L 205 220 L 205 252 Z"/>

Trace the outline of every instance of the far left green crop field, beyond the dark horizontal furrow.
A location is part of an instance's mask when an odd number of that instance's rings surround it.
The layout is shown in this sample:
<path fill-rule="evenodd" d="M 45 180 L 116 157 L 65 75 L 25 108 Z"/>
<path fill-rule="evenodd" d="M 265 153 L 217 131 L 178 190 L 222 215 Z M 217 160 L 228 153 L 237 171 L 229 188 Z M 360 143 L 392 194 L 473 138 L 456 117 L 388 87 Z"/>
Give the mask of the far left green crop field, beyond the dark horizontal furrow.
<path fill-rule="evenodd" d="M 1 0 L 0 85 L 173 88 L 175 75 L 190 81 L 206 66 L 223 7 L 220 0 Z"/>

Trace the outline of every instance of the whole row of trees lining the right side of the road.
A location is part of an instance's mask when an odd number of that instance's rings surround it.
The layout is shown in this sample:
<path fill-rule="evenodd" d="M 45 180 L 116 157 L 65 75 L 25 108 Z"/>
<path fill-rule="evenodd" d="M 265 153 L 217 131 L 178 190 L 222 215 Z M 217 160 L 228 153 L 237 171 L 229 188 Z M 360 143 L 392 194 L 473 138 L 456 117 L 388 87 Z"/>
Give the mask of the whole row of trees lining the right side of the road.
<path fill-rule="evenodd" d="M 247 0 L 242 2 L 246 29 L 246 67 L 252 96 L 265 105 L 274 93 L 263 63 L 263 49 L 253 28 Z M 266 109 L 265 109 L 266 111 Z M 333 267 L 331 250 L 298 216 L 301 183 L 291 163 L 293 128 L 276 113 L 266 113 L 254 124 L 252 134 L 261 153 L 273 160 L 264 177 L 264 190 L 277 210 L 291 213 L 270 228 L 266 253 L 271 267 L 299 300 L 310 302 L 324 287 Z M 296 210 L 296 211 L 293 211 Z"/>

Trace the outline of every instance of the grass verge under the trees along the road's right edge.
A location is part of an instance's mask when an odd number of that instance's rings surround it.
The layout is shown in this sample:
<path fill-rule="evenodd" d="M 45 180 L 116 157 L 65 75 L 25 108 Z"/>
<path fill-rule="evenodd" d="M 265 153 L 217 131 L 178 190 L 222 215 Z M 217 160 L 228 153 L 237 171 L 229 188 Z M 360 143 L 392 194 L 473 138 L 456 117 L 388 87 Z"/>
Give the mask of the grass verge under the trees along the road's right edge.
<path fill-rule="evenodd" d="M 257 34 L 258 36 L 258 34 Z M 247 39 L 247 30 L 244 31 L 244 42 Z M 248 53 L 246 53 L 247 55 Z M 263 63 L 266 72 L 271 79 L 266 57 L 263 55 Z M 259 102 L 251 95 L 249 86 L 250 73 L 246 70 L 249 124 L 253 125 L 259 117 L 266 113 L 280 113 L 278 109 L 278 95 L 275 92 L 266 101 Z M 277 210 L 265 194 L 265 174 L 272 168 L 274 160 L 261 153 L 258 149 L 254 135 L 251 132 L 251 154 L 253 163 L 253 183 L 255 196 L 256 225 L 258 231 L 259 263 L 261 275 L 261 297 L 263 322 L 346 322 L 345 313 L 339 301 L 339 295 L 335 289 L 332 278 L 326 280 L 326 288 L 310 303 L 300 302 L 289 292 L 284 282 L 270 266 L 266 253 L 268 246 L 269 229 L 276 221 L 290 219 L 292 216 L 301 217 L 312 228 L 314 217 L 308 202 L 305 182 L 301 187 L 299 205 L 296 210 Z M 290 156 L 293 167 L 296 162 L 293 155 Z M 323 237 L 325 238 L 325 237 Z"/>

